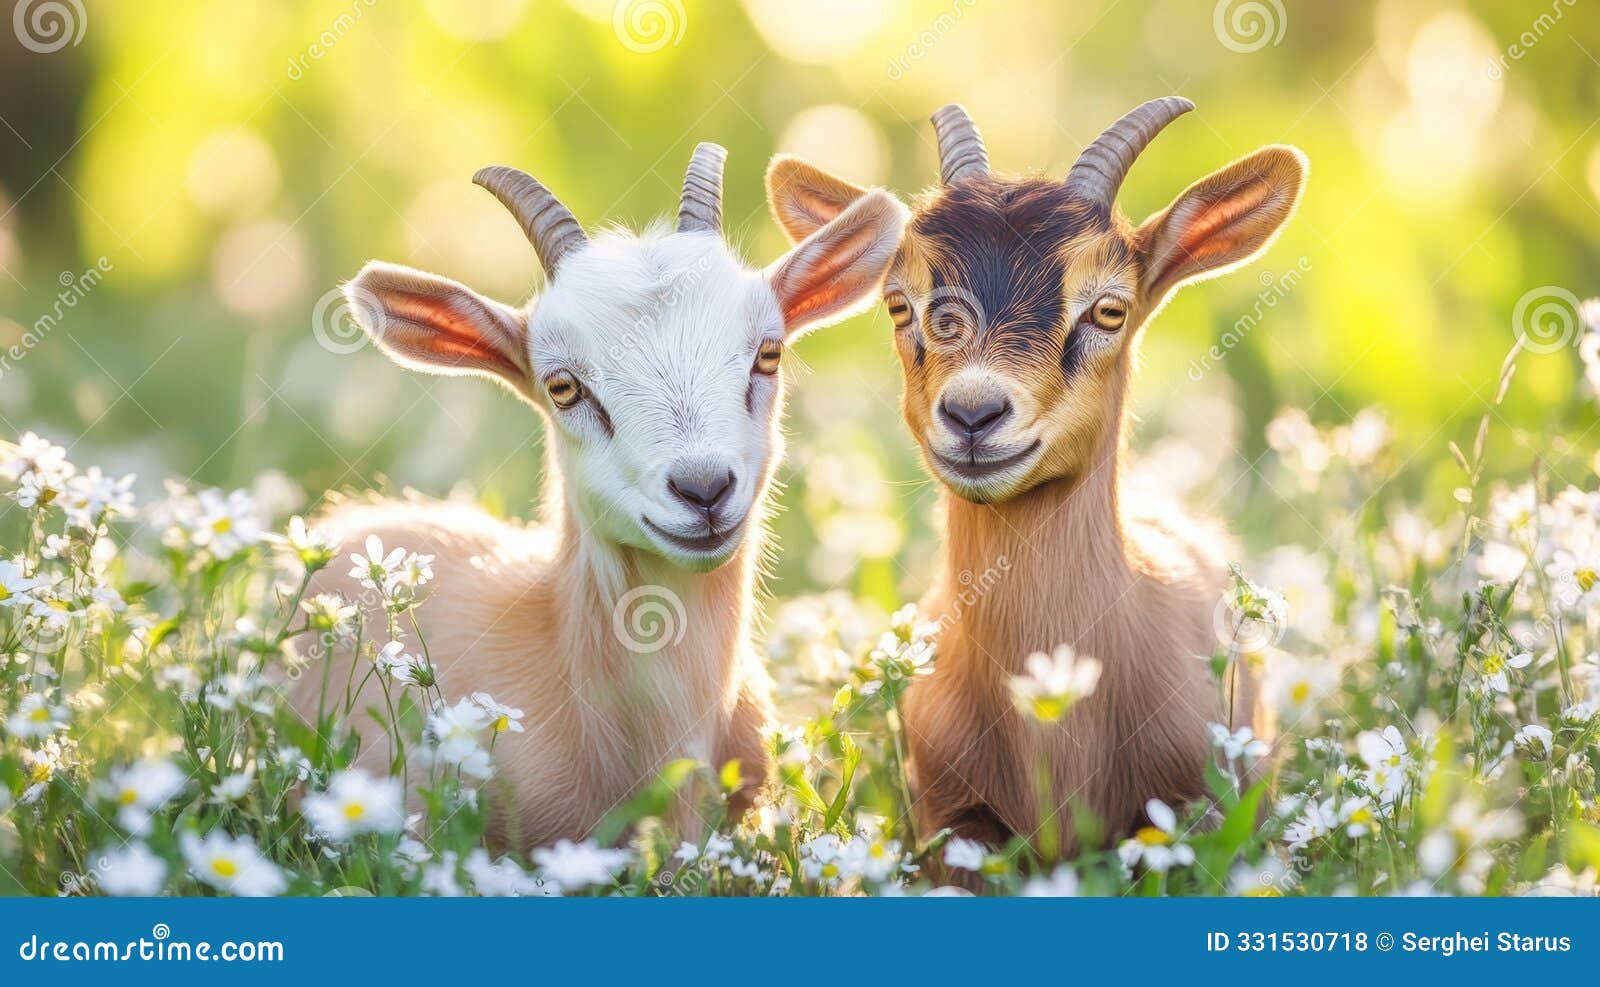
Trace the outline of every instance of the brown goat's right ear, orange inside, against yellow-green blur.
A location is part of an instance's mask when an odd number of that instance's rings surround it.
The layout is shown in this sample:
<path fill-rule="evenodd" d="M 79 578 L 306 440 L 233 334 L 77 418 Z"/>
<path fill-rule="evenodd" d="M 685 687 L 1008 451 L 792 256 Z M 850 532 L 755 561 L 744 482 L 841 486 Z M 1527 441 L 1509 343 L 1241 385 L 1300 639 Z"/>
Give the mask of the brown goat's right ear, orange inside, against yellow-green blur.
<path fill-rule="evenodd" d="M 1189 186 L 1136 240 L 1144 256 L 1144 296 L 1238 267 L 1264 251 L 1294 213 L 1306 184 L 1306 155 L 1270 146 Z"/>

